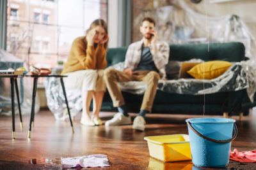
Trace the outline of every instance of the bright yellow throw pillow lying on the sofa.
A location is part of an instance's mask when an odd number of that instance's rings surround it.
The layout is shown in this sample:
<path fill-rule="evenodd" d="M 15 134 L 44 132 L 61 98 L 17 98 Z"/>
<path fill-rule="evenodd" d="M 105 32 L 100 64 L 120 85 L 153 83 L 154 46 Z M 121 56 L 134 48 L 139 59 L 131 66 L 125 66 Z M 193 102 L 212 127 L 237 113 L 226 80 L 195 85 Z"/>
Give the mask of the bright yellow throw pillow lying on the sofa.
<path fill-rule="evenodd" d="M 227 69 L 232 66 L 231 62 L 223 60 L 212 60 L 196 64 L 188 73 L 197 79 L 212 79 L 223 74 Z"/>

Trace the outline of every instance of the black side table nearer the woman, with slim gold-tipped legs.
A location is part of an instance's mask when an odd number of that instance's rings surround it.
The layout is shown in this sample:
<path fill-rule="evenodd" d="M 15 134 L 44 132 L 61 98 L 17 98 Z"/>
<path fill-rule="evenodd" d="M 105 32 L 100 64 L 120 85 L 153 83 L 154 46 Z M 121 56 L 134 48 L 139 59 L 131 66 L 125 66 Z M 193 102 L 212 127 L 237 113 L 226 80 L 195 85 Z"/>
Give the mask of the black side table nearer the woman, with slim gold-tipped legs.
<path fill-rule="evenodd" d="M 65 90 L 64 81 L 63 81 L 63 77 L 66 77 L 66 76 L 49 74 L 49 75 L 26 75 L 26 77 L 34 78 L 33 94 L 32 94 L 32 107 L 31 107 L 31 116 L 30 116 L 30 123 L 29 123 L 28 138 L 30 138 L 30 136 L 31 136 L 31 129 L 32 129 L 31 127 L 33 127 L 33 124 L 34 124 L 34 118 L 35 118 L 35 97 L 36 97 L 37 80 L 40 77 L 56 77 L 56 78 L 60 78 L 61 87 L 62 87 L 63 94 L 64 94 L 64 97 L 65 97 L 65 101 L 66 101 L 66 104 L 67 104 L 68 116 L 69 116 L 70 124 L 71 124 L 71 127 L 72 127 L 72 132 L 74 133 L 74 127 L 73 127 L 73 123 L 72 123 L 72 119 L 71 119 L 71 115 L 70 115 L 70 110 L 69 110 L 69 107 L 68 107 L 68 100 L 67 100 L 66 90 Z"/>

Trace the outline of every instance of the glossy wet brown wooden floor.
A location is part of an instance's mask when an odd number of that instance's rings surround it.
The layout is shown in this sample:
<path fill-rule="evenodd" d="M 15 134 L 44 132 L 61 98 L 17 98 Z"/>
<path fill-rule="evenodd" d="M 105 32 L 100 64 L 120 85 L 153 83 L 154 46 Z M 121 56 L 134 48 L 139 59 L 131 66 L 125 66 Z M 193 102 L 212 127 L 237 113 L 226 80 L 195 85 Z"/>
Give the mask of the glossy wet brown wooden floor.
<path fill-rule="evenodd" d="M 102 120 L 114 113 L 102 112 Z M 132 119 L 135 114 L 132 114 Z M 16 139 L 12 139 L 12 118 L 0 116 L 0 169 L 61 169 L 61 157 L 76 157 L 102 153 L 108 155 L 110 167 L 90 169 L 192 169 L 191 161 L 166 162 L 152 159 L 148 153 L 145 136 L 188 134 L 186 118 L 191 115 L 148 114 L 145 132 L 132 130 L 132 125 L 119 127 L 85 127 L 74 122 L 75 133 L 69 122 L 56 122 L 48 110 L 35 116 L 35 127 L 28 139 L 29 116 L 23 117 L 20 129 L 16 120 Z M 232 117 L 238 121 L 239 117 Z M 256 149 L 256 110 L 243 122 L 237 122 L 238 136 L 232 150 Z M 29 164 L 36 159 L 36 164 Z M 196 167 L 193 167 L 196 169 Z M 256 169 L 256 163 L 240 164 L 230 161 L 227 169 Z"/>

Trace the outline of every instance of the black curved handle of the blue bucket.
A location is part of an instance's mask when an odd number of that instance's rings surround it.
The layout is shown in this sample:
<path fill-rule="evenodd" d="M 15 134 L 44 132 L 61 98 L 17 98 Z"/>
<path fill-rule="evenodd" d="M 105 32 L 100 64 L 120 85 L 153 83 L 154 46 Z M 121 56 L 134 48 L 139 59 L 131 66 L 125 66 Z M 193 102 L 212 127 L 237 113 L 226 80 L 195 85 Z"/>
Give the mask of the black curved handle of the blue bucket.
<path fill-rule="evenodd" d="M 234 139 L 236 138 L 237 136 L 237 126 L 236 124 L 234 123 L 234 126 L 233 126 L 233 134 L 232 134 L 232 138 L 231 139 L 227 139 L 227 140 L 216 140 L 216 139 L 212 139 L 212 138 L 208 138 L 207 136 L 204 136 L 204 134 L 201 134 L 200 132 L 196 131 L 196 129 L 191 125 L 190 122 L 187 122 L 188 124 L 188 127 L 193 131 L 195 132 L 195 134 L 197 134 L 198 136 L 208 140 L 208 141 L 212 141 L 212 142 L 215 142 L 215 143 L 229 143 L 230 141 L 234 141 Z"/>

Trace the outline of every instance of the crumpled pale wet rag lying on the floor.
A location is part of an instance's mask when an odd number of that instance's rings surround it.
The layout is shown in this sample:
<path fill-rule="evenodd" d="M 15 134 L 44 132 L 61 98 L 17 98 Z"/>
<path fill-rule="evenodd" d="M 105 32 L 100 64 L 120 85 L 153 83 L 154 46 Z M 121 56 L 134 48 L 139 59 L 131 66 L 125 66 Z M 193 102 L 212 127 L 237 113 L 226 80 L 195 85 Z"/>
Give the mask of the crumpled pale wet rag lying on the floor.
<path fill-rule="evenodd" d="M 109 166 L 107 155 L 95 154 L 84 157 L 61 158 L 63 167 L 104 167 Z"/>

